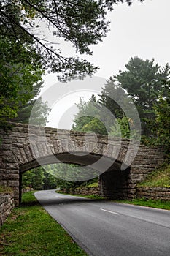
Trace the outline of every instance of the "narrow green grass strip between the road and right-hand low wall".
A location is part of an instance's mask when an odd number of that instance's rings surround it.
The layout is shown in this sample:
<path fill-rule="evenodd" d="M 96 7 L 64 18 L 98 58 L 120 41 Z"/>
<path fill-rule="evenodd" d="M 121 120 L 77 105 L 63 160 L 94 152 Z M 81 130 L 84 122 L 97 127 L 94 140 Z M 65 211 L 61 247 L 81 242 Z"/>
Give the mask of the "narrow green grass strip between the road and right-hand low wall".
<path fill-rule="evenodd" d="M 133 199 L 133 200 L 114 200 L 117 203 L 130 203 L 136 206 L 147 206 L 152 208 L 161 208 L 165 210 L 170 210 L 170 201 L 162 200 L 145 200 L 145 199 Z"/>

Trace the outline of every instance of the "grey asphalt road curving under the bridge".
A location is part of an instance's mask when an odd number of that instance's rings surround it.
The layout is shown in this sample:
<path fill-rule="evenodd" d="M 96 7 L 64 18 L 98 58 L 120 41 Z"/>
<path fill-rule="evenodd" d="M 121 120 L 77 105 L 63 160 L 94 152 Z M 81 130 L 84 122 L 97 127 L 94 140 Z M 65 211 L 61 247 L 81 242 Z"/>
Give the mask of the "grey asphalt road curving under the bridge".
<path fill-rule="evenodd" d="M 88 255 L 170 255 L 170 211 L 61 195 L 55 190 L 35 196 Z"/>

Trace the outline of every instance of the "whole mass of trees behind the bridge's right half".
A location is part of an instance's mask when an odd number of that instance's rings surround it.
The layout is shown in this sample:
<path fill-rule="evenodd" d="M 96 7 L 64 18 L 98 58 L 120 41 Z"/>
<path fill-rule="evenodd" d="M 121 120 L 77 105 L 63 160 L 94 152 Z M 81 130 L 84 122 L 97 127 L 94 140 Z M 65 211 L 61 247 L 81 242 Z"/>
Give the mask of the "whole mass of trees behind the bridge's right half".
<path fill-rule="evenodd" d="M 161 67 L 155 64 L 154 59 L 150 61 L 134 57 L 125 67 L 125 71 L 120 70 L 117 75 L 107 80 L 96 102 L 100 107 L 94 105 L 93 98 L 88 102 L 80 102 L 73 129 L 106 134 L 105 125 L 110 135 L 120 137 L 121 133 L 123 138 L 129 138 L 131 132 L 131 138 L 137 138 L 139 130 L 136 130 L 135 126 L 136 117 L 131 118 L 125 114 L 125 110 L 131 107 L 139 112 L 144 135 L 142 141 L 147 142 L 149 137 L 154 137 L 158 143 L 168 145 L 169 64 Z M 108 115 L 108 110 L 116 118 L 114 123 L 112 116 Z M 97 118 L 104 121 L 103 124 Z"/>

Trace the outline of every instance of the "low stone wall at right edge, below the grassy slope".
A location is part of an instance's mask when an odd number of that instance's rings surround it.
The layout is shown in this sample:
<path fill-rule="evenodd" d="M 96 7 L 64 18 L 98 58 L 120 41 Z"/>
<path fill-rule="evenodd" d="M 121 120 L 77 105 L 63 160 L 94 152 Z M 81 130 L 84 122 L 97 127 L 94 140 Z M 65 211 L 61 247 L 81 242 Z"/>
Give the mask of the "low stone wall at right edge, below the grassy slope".
<path fill-rule="evenodd" d="M 138 187 L 137 198 L 170 201 L 170 188 L 166 187 Z"/>

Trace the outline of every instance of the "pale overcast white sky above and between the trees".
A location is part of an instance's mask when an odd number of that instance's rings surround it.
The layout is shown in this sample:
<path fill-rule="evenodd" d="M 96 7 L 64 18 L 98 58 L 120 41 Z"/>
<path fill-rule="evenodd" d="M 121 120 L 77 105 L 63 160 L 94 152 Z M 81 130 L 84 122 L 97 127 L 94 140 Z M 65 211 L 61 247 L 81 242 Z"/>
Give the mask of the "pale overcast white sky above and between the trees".
<path fill-rule="evenodd" d="M 131 7 L 118 4 L 115 10 L 108 14 L 111 31 L 103 42 L 91 47 L 93 56 L 83 58 L 99 66 L 100 70 L 95 75 L 105 79 L 116 75 L 119 69 L 125 69 L 125 64 L 134 56 L 150 60 L 154 58 L 155 62 L 163 66 L 167 62 L 170 64 L 169 12 L 169 0 L 145 0 L 143 3 L 136 0 Z M 74 50 L 70 45 L 64 45 L 64 53 L 72 56 Z M 54 74 L 46 75 L 44 80 L 45 88 L 42 91 L 57 82 Z M 60 90 L 61 85 L 57 86 Z M 79 101 L 79 97 L 76 97 L 76 102 Z M 52 112 L 56 113 L 56 109 Z M 52 112 L 50 120 L 53 119 Z M 50 124 L 52 123 L 47 125 Z"/>

